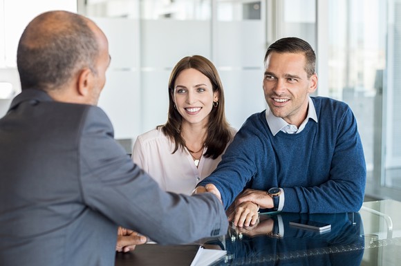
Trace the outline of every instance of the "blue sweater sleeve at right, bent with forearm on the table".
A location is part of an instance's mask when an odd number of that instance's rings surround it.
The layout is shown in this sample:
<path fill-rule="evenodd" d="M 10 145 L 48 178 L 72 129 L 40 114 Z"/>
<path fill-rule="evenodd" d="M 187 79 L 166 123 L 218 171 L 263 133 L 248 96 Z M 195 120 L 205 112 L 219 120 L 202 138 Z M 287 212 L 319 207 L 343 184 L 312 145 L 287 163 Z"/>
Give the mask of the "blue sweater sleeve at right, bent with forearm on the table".
<path fill-rule="evenodd" d="M 337 128 L 333 129 L 335 146 L 326 182 L 314 187 L 284 186 L 283 211 L 338 213 L 360 210 L 366 184 L 362 142 L 351 108 L 348 107 L 338 120 Z"/>

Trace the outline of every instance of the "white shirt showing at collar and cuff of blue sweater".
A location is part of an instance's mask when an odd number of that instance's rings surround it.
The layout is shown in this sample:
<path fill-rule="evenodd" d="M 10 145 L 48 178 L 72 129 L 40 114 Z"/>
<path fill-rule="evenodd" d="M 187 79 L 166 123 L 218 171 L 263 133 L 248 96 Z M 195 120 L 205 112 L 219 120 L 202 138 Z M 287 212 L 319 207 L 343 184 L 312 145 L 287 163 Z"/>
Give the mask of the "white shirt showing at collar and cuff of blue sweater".
<path fill-rule="evenodd" d="M 297 134 L 300 133 L 305 129 L 306 124 L 308 123 L 310 119 L 313 119 L 317 122 L 317 115 L 316 115 L 316 109 L 315 105 L 313 104 L 312 99 L 309 97 L 308 99 L 308 115 L 306 115 L 306 118 L 304 122 L 302 122 L 301 126 L 297 128 L 294 124 L 288 124 L 283 118 L 277 117 L 273 115 L 272 111 L 270 111 L 270 108 L 266 109 L 266 121 L 268 122 L 268 126 L 270 128 L 270 131 L 272 131 L 272 134 L 275 136 L 279 131 L 283 131 L 284 133 L 288 134 Z M 284 197 L 284 190 L 281 189 L 281 194 L 280 194 L 280 199 L 279 199 L 279 208 L 277 211 L 282 211 L 284 207 L 284 201 L 286 198 Z"/>

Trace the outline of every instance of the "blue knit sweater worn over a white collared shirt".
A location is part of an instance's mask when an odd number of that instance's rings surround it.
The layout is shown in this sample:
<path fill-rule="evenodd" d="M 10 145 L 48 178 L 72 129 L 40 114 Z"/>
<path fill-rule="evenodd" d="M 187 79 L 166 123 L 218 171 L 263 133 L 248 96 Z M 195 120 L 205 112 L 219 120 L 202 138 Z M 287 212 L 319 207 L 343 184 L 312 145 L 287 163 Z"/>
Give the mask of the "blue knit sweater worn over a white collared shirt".
<path fill-rule="evenodd" d="M 216 170 L 198 185 L 216 185 L 226 209 L 243 189 L 281 187 L 283 211 L 359 211 L 366 164 L 355 117 L 344 102 L 311 98 L 318 122 L 309 120 L 298 134 L 273 136 L 265 111 L 251 115 Z"/>

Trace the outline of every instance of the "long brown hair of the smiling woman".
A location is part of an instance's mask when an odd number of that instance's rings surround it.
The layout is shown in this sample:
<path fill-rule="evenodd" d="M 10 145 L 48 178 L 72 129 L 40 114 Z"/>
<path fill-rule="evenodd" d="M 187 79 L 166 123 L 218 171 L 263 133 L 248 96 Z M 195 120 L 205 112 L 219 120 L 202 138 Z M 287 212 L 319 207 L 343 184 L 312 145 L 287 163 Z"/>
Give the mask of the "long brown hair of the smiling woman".
<path fill-rule="evenodd" d="M 213 91 L 217 91 L 219 95 L 218 105 L 213 107 L 209 114 L 207 137 L 205 140 L 205 146 L 207 147 L 205 157 L 216 159 L 223 153 L 225 146 L 227 146 L 227 143 L 230 141 L 231 132 L 230 125 L 225 118 L 223 85 L 221 84 L 221 79 L 216 67 L 209 59 L 201 55 L 194 55 L 191 57 L 184 57 L 174 66 L 169 79 L 169 114 L 167 123 L 158 126 L 158 128 L 161 127 L 163 133 L 176 144 L 173 153 L 175 153 L 178 148 L 184 148 L 185 140 L 180 135 L 183 117 L 181 117 L 180 113 L 174 108 L 174 84 L 181 71 L 188 68 L 194 68 L 208 77 L 212 83 Z"/>

